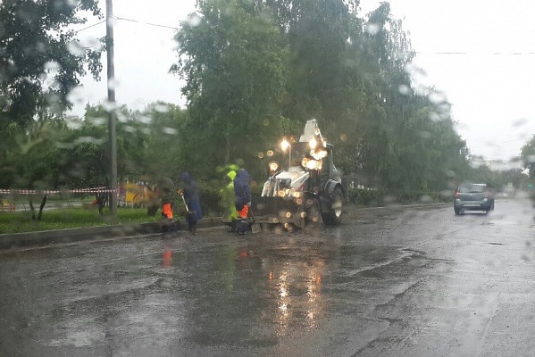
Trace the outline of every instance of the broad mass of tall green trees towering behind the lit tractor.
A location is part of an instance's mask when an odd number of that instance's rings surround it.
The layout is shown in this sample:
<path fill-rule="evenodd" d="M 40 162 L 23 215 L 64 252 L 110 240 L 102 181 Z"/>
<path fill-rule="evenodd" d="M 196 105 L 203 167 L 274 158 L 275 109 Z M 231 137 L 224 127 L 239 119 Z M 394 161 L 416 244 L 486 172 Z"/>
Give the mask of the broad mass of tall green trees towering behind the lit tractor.
<path fill-rule="evenodd" d="M 446 99 L 431 100 L 435 95 L 432 88 L 428 93 L 413 88 L 406 69 L 414 50 L 402 21 L 392 18 L 388 3 L 381 3 L 365 18 L 356 12 L 358 1 L 197 3 L 196 21 L 186 24 L 177 35 L 181 57 L 174 70 L 188 82 L 185 94 L 191 120 L 204 125 L 207 137 L 218 143 L 216 147 L 233 144 L 247 147 L 252 154 L 260 151 L 250 142 L 225 143 L 222 133 L 237 123 L 238 128 L 251 129 L 258 118 L 234 115 L 230 109 L 250 114 L 252 108 L 260 107 L 256 98 L 251 100 L 249 92 L 241 88 L 258 85 L 255 90 L 263 93 L 275 83 L 283 86 L 283 100 L 276 101 L 277 95 L 262 95 L 262 107 L 288 118 L 286 128 L 294 130 L 287 135 L 298 135 L 305 120 L 319 120 L 322 131 L 337 148 L 337 164 L 359 184 L 390 191 L 428 191 L 452 186 L 468 173 L 469 153 L 454 129 L 450 104 Z M 269 55 L 250 46 L 255 30 L 243 26 L 257 24 L 259 17 L 266 16 L 269 20 L 260 21 L 269 24 L 262 27 L 262 40 L 266 41 L 265 32 L 276 24 L 277 43 L 288 45 L 272 46 Z M 238 44 L 247 46 L 233 51 Z M 287 49 L 287 62 L 273 61 L 286 58 Z M 251 62 L 241 65 L 242 58 Z M 265 77 L 256 75 L 258 65 L 265 62 L 276 62 L 277 68 L 278 63 L 288 66 L 288 79 L 265 82 Z M 238 84 L 239 89 L 230 83 Z M 269 137 L 255 130 L 248 134 L 256 143 L 272 148 Z M 232 150 L 225 155 L 227 162 L 241 157 Z M 217 163 L 223 161 L 222 154 L 219 159 L 213 157 Z"/>

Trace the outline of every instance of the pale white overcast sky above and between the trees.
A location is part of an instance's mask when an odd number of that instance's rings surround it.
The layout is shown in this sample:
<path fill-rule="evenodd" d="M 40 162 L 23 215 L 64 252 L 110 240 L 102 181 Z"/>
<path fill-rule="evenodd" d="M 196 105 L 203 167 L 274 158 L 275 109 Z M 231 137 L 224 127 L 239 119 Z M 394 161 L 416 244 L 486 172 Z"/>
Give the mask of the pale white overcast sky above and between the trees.
<path fill-rule="evenodd" d="M 361 0 L 363 13 L 380 1 Z M 417 52 L 414 68 L 425 76 L 419 83 L 432 85 L 453 104 L 457 132 L 472 154 L 508 160 L 535 133 L 535 2 L 531 0 L 391 0 L 393 16 Z M 101 0 L 105 11 L 105 1 Z M 184 104 L 183 83 L 168 73 L 176 60 L 172 36 L 180 21 L 195 10 L 195 0 L 113 0 L 116 99 L 131 109 L 163 100 Z M 139 21 L 139 22 L 134 22 Z M 96 23 L 88 21 L 87 25 Z M 105 24 L 79 32 L 90 44 L 105 34 Z M 104 56 L 105 62 L 105 56 Z M 75 113 L 87 103 L 105 101 L 103 81 L 83 79 L 72 94 Z"/>

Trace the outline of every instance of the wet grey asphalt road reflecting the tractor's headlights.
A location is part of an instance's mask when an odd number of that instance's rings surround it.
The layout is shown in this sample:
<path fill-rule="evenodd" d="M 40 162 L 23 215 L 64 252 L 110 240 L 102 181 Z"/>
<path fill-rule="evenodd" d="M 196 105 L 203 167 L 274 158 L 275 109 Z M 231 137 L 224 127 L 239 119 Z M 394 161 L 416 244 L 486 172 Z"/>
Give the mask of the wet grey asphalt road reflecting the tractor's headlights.
<path fill-rule="evenodd" d="M 0 355 L 532 356 L 534 213 L 0 251 Z"/>

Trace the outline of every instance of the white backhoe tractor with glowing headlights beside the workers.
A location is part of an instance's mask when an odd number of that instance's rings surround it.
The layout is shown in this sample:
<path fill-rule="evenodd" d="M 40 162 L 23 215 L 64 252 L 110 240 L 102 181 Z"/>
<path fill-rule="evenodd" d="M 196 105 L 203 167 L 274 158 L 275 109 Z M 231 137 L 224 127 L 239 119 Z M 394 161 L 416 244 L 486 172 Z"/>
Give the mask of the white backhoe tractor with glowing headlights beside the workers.
<path fill-rule="evenodd" d="M 262 195 L 253 197 L 255 223 L 281 225 L 288 230 L 321 220 L 338 226 L 346 189 L 334 165 L 334 148 L 322 137 L 317 121 L 306 122 L 298 141 L 285 138 L 280 146 L 280 158 L 269 162 Z"/>

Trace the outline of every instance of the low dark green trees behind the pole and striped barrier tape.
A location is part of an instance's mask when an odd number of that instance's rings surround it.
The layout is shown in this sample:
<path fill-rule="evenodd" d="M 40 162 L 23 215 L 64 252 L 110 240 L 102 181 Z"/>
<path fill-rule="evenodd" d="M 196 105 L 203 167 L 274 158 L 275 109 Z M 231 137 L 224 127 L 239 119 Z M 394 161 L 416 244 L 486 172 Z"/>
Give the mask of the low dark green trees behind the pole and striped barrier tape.
<path fill-rule="evenodd" d="M 185 111 L 150 104 L 142 112 L 117 109 L 118 177 L 121 182 L 177 179 L 188 167 Z M 107 112 L 88 105 L 82 119 L 16 123 L 4 129 L 11 145 L 0 156 L 0 187 L 60 189 L 108 187 L 110 155 Z"/>

